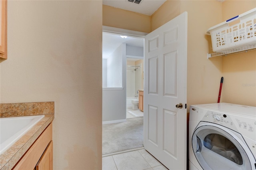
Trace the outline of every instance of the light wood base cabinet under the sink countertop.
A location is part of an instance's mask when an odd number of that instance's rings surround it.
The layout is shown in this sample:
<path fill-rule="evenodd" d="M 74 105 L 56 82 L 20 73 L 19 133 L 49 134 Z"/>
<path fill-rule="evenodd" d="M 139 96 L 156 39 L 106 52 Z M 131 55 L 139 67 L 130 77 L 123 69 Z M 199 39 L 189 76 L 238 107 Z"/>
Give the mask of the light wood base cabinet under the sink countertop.
<path fill-rule="evenodd" d="M 52 168 L 52 123 L 50 123 L 13 170 L 52 170 Z"/>

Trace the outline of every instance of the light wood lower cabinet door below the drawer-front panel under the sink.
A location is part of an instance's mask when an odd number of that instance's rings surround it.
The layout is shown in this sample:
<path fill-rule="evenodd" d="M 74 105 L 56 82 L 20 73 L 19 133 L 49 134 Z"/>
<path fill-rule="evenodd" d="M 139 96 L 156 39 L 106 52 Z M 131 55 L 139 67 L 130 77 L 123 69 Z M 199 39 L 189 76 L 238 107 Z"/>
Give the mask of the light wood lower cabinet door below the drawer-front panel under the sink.
<path fill-rule="evenodd" d="M 36 170 L 52 170 L 52 140 L 36 165 Z"/>

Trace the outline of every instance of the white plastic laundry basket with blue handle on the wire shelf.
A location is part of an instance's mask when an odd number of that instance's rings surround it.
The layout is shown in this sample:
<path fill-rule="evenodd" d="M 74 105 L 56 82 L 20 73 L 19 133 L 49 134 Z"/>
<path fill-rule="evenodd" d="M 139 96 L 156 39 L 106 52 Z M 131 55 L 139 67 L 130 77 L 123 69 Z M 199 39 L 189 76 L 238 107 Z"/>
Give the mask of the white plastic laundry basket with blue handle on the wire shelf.
<path fill-rule="evenodd" d="M 256 8 L 209 28 L 207 33 L 214 52 L 256 43 Z"/>

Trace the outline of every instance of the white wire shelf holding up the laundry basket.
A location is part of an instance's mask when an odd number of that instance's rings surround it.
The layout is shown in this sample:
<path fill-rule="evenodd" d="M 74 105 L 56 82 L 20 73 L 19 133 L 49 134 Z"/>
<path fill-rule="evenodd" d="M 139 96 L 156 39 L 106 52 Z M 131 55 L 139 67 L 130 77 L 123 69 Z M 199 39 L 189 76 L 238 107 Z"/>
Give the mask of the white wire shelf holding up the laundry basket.
<path fill-rule="evenodd" d="M 207 53 L 207 58 L 216 57 L 216 56 L 226 56 L 226 55 L 231 55 L 235 53 L 242 53 L 242 52 L 252 51 L 255 49 L 256 49 L 256 43 L 250 44 L 250 45 L 244 45 L 241 47 L 235 47 L 232 49 L 227 49 L 217 53 Z"/>

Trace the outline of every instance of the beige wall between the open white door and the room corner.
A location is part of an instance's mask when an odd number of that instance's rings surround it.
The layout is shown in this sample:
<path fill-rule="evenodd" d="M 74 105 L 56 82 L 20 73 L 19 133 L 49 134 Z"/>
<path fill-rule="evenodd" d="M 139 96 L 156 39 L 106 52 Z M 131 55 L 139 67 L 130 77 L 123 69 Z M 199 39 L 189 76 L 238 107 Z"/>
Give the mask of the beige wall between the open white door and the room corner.
<path fill-rule="evenodd" d="M 207 59 L 211 50 L 208 46 L 210 36 L 206 32 L 222 21 L 222 3 L 216 0 L 182 1 L 181 13 L 184 11 L 188 12 L 187 104 L 217 103 L 222 60 L 220 57 Z"/>

